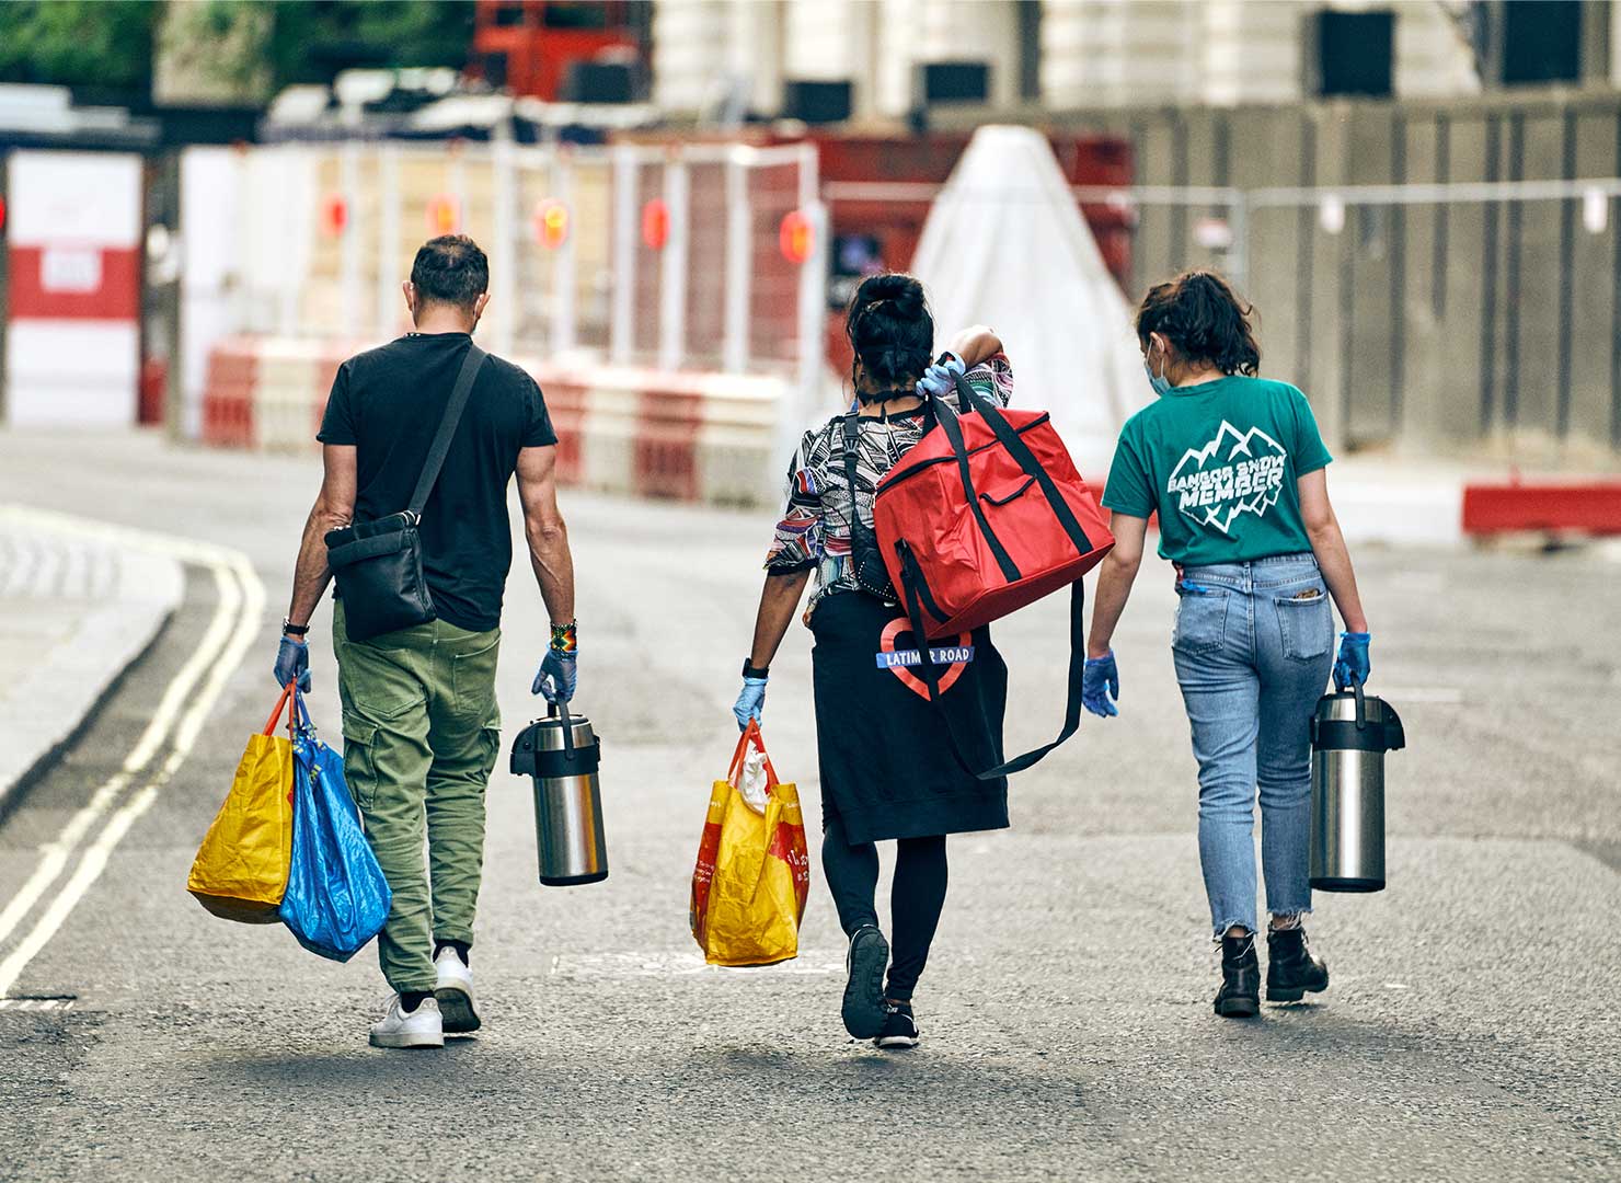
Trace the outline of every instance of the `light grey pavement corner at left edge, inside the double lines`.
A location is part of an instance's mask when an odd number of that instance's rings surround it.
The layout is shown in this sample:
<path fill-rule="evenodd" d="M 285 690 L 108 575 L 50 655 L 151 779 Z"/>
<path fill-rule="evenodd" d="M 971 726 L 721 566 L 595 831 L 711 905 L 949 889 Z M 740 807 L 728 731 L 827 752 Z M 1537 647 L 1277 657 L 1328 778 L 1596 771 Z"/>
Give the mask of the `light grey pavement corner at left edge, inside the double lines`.
<path fill-rule="evenodd" d="M 180 604 L 180 564 L 0 504 L 0 812 Z"/>

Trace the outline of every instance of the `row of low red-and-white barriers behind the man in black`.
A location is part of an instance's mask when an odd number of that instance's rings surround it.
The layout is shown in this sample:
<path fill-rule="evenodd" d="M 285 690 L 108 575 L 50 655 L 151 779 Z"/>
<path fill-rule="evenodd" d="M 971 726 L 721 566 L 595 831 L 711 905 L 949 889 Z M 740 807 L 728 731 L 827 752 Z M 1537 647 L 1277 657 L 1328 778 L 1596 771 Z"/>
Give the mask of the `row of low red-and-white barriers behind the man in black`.
<path fill-rule="evenodd" d="M 230 337 L 209 353 L 203 442 L 314 446 L 332 378 L 361 344 Z M 775 501 L 788 379 L 559 366 L 514 358 L 546 397 L 562 485 L 721 506 Z"/>

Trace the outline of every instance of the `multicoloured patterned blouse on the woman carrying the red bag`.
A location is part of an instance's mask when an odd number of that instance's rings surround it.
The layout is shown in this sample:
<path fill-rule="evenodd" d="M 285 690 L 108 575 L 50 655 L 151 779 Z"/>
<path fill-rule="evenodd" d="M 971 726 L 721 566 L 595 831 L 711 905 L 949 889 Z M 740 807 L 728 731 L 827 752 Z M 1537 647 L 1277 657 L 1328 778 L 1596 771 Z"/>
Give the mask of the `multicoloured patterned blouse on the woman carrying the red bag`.
<path fill-rule="evenodd" d="M 1013 397 L 1013 368 L 1003 353 L 982 361 L 966 374 L 969 386 L 1007 407 Z M 953 391 L 947 402 L 961 410 Z M 845 475 L 845 415 L 835 415 L 817 431 L 807 431 L 788 465 L 788 509 L 776 523 L 765 570 L 791 575 L 815 567 L 815 590 L 806 621 L 823 596 L 859 592 L 849 572 L 849 481 Z M 872 530 L 872 491 L 883 475 L 924 436 L 922 407 L 888 418 L 858 420 L 856 498 L 861 522 Z"/>

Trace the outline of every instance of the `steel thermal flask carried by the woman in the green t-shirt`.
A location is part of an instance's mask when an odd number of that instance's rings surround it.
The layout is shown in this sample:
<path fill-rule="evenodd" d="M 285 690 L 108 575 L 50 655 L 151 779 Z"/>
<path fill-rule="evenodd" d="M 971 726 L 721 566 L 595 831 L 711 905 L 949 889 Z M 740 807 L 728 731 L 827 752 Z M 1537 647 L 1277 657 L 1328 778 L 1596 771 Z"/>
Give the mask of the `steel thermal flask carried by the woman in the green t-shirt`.
<path fill-rule="evenodd" d="M 1384 754 L 1407 745 L 1396 708 L 1350 690 L 1311 718 L 1311 886 L 1384 890 Z"/>

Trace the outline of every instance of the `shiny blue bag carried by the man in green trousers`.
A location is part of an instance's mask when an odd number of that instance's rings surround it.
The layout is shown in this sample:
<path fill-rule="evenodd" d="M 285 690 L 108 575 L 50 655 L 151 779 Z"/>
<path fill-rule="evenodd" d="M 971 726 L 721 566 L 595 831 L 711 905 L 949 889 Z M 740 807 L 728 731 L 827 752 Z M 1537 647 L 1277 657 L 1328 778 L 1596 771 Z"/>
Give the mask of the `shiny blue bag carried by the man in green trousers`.
<path fill-rule="evenodd" d="M 394 898 L 344 781 L 344 757 L 316 737 L 295 695 L 293 852 L 280 917 L 311 953 L 349 961 L 383 929 Z"/>

